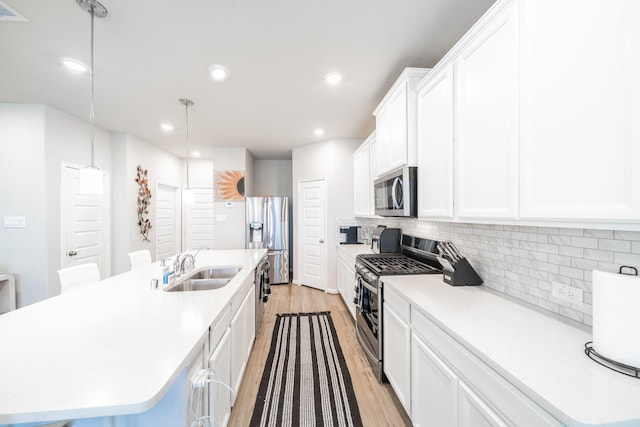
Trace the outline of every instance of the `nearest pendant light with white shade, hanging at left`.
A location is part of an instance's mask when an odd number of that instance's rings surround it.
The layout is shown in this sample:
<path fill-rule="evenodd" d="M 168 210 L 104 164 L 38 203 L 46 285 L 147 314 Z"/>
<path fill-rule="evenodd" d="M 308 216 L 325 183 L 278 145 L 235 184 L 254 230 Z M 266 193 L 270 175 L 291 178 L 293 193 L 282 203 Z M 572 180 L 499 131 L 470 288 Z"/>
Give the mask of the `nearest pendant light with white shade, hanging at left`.
<path fill-rule="evenodd" d="M 89 123 L 90 123 L 90 143 L 91 143 L 91 163 L 80 169 L 80 193 L 102 194 L 103 175 L 102 171 L 94 163 L 94 124 L 93 124 L 93 20 L 95 17 L 104 18 L 107 16 L 107 8 L 97 0 L 76 0 L 80 9 L 89 12 L 91 16 L 91 63 L 89 66 Z"/>

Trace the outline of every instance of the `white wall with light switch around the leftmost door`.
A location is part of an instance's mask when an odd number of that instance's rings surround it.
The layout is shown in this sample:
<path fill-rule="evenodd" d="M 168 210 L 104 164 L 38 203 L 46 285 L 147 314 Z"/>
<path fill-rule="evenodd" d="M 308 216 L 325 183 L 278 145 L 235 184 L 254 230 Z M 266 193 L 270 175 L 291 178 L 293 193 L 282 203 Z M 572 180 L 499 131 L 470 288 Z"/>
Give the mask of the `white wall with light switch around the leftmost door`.
<path fill-rule="evenodd" d="M 108 133 L 95 134 L 96 164 L 110 171 Z M 90 160 L 89 125 L 43 105 L 0 103 L 0 218 L 25 216 L 25 229 L 0 229 L 0 271 L 16 275 L 18 307 L 59 292 L 62 162 Z"/>

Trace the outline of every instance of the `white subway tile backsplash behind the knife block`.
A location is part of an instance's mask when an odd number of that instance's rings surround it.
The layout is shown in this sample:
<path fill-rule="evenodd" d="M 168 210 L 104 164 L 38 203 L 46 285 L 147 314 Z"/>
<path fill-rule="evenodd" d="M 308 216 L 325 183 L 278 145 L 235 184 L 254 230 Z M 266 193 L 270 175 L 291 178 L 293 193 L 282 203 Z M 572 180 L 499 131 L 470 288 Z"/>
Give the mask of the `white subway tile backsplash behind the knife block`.
<path fill-rule="evenodd" d="M 341 222 L 354 222 L 344 219 Z M 416 219 L 357 219 L 361 226 L 384 224 L 406 234 L 451 240 L 474 266 L 484 285 L 517 299 L 592 325 L 592 272 L 640 269 L 640 232 L 580 228 L 438 223 Z M 584 291 L 581 306 L 551 297 L 551 282 Z"/>

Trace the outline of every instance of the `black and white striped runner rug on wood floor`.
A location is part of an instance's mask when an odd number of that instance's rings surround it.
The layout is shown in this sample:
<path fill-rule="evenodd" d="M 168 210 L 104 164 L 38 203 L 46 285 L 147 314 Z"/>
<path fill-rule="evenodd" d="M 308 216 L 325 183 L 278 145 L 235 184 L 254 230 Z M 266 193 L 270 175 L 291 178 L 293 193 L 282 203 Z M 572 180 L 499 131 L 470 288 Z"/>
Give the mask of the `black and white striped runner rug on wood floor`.
<path fill-rule="evenodd" d="M 362 426 L 329 312 L 277 315 L 251 426 Z"/>

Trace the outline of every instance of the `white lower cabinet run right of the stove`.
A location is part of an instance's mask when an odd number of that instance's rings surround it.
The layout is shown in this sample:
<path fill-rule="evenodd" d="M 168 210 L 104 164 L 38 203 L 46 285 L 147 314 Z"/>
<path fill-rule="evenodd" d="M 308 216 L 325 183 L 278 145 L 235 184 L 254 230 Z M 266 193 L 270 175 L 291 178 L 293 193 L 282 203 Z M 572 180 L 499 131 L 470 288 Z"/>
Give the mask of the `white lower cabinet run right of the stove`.
<path fill-rule="evenodd" d="M 384 372 L 414 426 L 563 425 L 399 291 L 383 292 Z"/>

